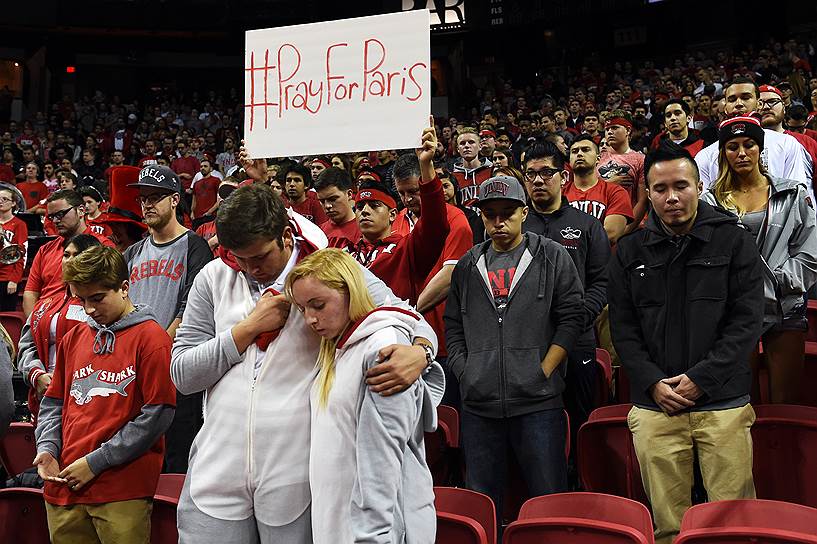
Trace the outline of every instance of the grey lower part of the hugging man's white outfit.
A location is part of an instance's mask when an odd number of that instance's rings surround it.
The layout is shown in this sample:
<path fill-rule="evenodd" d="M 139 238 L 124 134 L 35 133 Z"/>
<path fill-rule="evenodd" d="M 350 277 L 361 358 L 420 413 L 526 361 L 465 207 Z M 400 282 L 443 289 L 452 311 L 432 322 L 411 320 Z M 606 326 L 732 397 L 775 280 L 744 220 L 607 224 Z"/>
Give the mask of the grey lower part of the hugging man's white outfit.
<path fill-rule="evenodd" d="M 176 515 L 179 544 L 312 544 L 311 511 L 307 508 L 298 519 L 281 527 L 264 525 L 255 516 L 241 521 L 214 518 L 196 508 L 188 478 Z"/>

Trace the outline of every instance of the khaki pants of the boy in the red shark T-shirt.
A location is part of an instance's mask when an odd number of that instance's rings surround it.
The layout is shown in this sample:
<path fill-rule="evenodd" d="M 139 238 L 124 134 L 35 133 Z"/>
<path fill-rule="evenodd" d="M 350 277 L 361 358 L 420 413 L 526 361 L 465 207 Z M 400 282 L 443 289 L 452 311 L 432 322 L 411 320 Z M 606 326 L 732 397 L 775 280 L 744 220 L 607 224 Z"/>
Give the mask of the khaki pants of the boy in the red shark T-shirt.
<path fill-rule="evenodd" d="M 52 544 L 150 544 L 153 501 L 55 506 L 45 503 Z"/>

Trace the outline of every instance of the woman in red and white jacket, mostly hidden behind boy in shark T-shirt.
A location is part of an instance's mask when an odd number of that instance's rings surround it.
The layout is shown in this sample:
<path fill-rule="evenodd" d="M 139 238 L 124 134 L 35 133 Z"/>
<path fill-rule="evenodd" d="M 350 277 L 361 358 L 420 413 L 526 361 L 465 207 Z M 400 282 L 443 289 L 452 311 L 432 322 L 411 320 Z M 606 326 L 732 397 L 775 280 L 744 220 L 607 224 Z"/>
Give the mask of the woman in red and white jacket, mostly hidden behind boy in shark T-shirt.
<path fill-rule="evenodd" d="M 78 234 L 64 245 L 62 262 L 65 264 L 88 248 L 100 245 L 90 234 Z M 61 295 L 44 297 L 37 301 L 20 337 L 18 368 L 28 385 L 28 409 L 31 420 L 37 424 L 40 399 L 43 398 L 54 373 L 57 346 L 76 325 L 87 316 L 82 302 L 65 286 Z"/>

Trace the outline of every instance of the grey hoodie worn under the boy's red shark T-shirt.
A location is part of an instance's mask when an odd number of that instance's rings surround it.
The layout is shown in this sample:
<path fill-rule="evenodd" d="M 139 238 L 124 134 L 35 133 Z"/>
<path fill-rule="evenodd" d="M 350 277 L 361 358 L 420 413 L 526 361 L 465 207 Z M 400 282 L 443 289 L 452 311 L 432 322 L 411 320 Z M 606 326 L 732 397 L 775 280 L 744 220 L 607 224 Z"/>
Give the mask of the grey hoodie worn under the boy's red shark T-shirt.
<path fill-rule="evenodd" d="M 99 325 L 89 317 L 88 326 L 97 331 L 94 353 L 113 353 L 116 349 L 117 331 L 150 320 L 156 321 L 156 318 L 149 306 L 136 306 L 134 311 L 108 327 Z M 62 407 L 62 399 L 44 396 L 35 429 L 37 453 L 47 451 L 55 459 L 59 459 L 62 451 Z M 170 427 L 175 412 L 175 408 L 165 404 L 143 406 L 141 414 L 128 421 L 119 432 L 88 454 L 91 471 L 98 475 L 103 470 L 128 463 L 148 451 Z"/>

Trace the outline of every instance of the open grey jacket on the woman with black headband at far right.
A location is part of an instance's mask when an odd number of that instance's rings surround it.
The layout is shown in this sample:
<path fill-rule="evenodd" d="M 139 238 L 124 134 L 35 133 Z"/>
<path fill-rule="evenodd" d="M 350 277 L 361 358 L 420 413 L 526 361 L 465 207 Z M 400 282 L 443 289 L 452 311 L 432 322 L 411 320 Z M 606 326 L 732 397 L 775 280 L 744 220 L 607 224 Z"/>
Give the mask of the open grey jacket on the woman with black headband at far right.
<path fill-rule="evenodd" d="M 801 181 L 766 176 L 772 186 L 757 237 L 763 258 L 764 329 L 798 315 L 803 296 L 817 282 L 817 221 Z M 709 191 L 701 200 L 721 206 Z"/>

